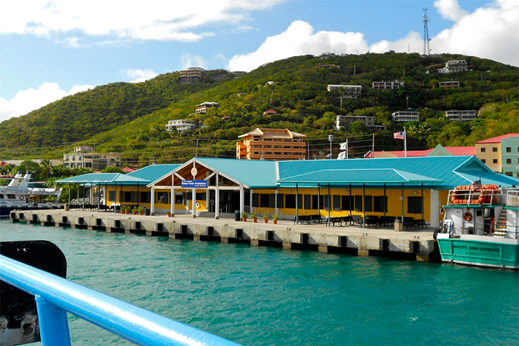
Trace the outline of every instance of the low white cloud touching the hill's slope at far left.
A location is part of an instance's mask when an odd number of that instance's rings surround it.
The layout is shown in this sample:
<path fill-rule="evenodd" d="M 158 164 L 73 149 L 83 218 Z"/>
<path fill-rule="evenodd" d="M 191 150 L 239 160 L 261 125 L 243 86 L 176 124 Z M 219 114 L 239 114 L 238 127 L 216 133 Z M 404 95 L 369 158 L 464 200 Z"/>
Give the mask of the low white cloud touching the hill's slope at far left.
<path fill-rule="evenodd" d="M 0 122 L 15 116 L 23 116 L 65 96 L 93 88 L 92 85 L 75 85 L 70 91 L 64 91 L 57 83 L 45 82 L 37 90 L 31 88 L 18 91 L 12 100 L 0 98 Z"/>

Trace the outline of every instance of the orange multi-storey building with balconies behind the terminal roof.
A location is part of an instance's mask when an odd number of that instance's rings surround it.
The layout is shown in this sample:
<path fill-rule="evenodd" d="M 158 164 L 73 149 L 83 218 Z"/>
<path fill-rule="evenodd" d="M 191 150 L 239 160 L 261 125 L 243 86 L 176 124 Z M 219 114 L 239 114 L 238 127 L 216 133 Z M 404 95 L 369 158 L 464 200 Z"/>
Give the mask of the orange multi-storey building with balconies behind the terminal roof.
<path fill-rule="evenodd" d="M 306 158 L 304 134 L 289 129 L 255 129 L 236 143 L 236 158 L 242 160 L 300 160 Z"/>

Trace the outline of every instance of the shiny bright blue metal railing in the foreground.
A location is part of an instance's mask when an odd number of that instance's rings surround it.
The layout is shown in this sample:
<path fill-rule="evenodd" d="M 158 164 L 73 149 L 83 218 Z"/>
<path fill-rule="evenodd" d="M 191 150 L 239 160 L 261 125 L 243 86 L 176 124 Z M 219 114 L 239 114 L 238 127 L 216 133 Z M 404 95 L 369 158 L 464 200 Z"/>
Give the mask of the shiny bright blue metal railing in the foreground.
<path fill-rule="evenodd" d="M 2 255 L 0 279 L 35 295 L 44 346 L 71 345 L 67 312 L 137 345 L 239 346 Z"/>

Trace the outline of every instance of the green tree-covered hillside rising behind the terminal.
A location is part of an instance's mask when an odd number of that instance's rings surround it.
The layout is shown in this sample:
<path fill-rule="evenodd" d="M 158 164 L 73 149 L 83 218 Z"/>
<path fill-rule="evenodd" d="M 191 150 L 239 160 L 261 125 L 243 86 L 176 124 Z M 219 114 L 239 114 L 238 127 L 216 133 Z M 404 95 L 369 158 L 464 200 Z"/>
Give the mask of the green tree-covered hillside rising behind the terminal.
<path fill-rule="evenodd" d="M 437 72 L 454 59 L 468 60 L 471 71 Z M 371 89 L 372 82 L 382 80 L 405 84 L 396 90 Z M 448 80 L 458 80 L 461 87 L 438 87 Z M 195 155 L 233 157 L 237 136 L 255 127 L 306 134 L 311 158 L 327 154 L 329 134 L 335 136 L 337 151 L 339 142 L 349 140 L 350 157 L 365 154 L 373 143 L 376 150 L 401 149 L 401 140 L 392 140 L 392 133 L 403 127 L 408 149 L 473 145 L 519 132 L 518 80 L 518 68 L 478 57 L 392 52 L 291 57 L 234 80 L 227 71 L 207 71 L 197 84 L 181 84 L 179 73 L 167 73 L 138 84 L 98 86 L 0 123 L 0 158 L 59 157 L 75 144 L 94 143 L 98 151 L 121 152 L 141 165 L 182 162 Z M 341 102 L 340 93 L 327 91 L 327 84 L 361 84 L 362 98 Z M 194 114 L 195 106 L 206 101 L 220 107 Z M 421 109 L 421 121 L 392 122 L 391 113 L 406 107 Z M 267 109 L 276 113 L 262 115 Z M 448 122 L 444 112 L 453 109 L 480 110 L 480 116 L 473 122 Z M 375 116 L 386 129 L 354 122 L 336 131 L 336 115 Z M 183 133 L 165 131 L 167 120 L 181 118 L 203 126 Z"/>

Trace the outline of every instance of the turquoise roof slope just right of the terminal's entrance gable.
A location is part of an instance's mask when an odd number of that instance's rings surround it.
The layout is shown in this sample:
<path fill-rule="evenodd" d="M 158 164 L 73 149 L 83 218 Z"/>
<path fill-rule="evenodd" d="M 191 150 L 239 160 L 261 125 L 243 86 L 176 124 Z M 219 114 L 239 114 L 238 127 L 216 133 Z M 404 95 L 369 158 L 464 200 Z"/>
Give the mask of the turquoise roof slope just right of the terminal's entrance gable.
<path fill-rule="evenodd" d="M 235 158 L 196 158 L 248 188 L 276 188 L 275 161 L 237 160 Z"/>

